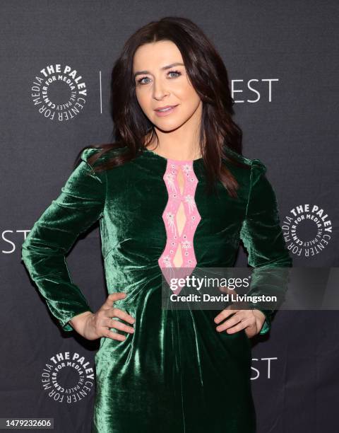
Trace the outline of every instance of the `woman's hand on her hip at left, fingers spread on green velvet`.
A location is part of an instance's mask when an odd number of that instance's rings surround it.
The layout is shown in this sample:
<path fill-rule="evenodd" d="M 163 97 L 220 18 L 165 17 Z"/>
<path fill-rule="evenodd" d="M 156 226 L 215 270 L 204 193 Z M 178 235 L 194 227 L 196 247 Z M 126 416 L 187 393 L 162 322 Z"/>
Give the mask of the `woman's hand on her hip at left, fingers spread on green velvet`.
<path fill-rule="evenodd" d="M 100 337 L 112 338 L 112 340 L 124 341 L 126 336 L 114 331 L 109 328 L 115 328 L 126 331 L 127 333 L 133 333 L 134 328 L 125 325 L 120 321 L 114 321 L 114 317 L 121 318 L 128 323 L 134 323 L 134 318 L 120 308 L 114 308 L 114 301 L 124 299 L 126 293 L 112 293 L 107 296 L 105 304 L 102 304 L 100 309 L 96 313 L 91 311 L 85 311 L 84 313 L 74 316 L 69 323 L 76 330 L 77 333 L 82 335 L 87 340 L 97 340 Z"/>

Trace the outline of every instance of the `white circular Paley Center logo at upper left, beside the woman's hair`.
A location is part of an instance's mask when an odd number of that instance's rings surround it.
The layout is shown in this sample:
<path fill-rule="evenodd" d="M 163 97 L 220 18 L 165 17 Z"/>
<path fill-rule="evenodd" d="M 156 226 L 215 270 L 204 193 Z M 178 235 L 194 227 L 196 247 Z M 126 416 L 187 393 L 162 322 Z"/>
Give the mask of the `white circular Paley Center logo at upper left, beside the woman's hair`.
<path fill-rule="evenodd" d="M 71 120 L 86 103 L 83 77 L 68 64 L 50 64 L 40 70 L 32 83 L 32 100 L 40 114 L 49 120 Z"/>

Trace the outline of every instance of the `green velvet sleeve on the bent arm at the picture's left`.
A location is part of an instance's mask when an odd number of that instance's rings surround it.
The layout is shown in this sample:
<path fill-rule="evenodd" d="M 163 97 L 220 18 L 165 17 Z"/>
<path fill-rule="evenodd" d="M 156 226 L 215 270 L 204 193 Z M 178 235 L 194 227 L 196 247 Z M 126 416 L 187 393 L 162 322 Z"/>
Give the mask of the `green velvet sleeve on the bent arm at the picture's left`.
<path fill-rule="evenodd" d="M 52 200 L 35 222 L 21 250 L 21 258 L 31 279 L 66 331 L 73 330 L 68 323 L 73 316 L 92 311 L 81 290 L 72 282 L 66 253 L 79 234 L 102 217 L 105 175 L 92 173 L 93 167 L 87 161 L 97 150 L 83 151 L 81 163 L 61 187 L 59 197 Z"/>

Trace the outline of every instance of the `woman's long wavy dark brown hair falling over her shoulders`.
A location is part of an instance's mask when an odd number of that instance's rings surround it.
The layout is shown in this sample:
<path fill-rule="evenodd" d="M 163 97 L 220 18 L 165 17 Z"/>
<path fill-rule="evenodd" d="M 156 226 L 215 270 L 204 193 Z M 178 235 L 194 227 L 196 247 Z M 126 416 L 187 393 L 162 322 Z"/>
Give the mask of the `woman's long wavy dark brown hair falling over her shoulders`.
<path fill-rule="evenodd" d="M 94 168 L 94 171 L 104 171 L 131 161 L 153 139 L 157 141 L 155 126 L 145 116 L 136 98 L 133 56 L 141 45 L 162 40 L 170 40 L 177 45 L 189 80 L 203 103 L 200 150 L 208 191 L 214 189 L 216 180 L 220 180 L 230 196 L 237 197 L 237 180 L 222 163 L 222 158 L 225 158 L 231 163 L 243 165 L 225 149 L 242 155 L 242 130 L 232 120 L 234 100 L 230 94 L 227 70 L 213 44 L 201 28 L 188 18 L 167 16 L 160 21 L 151 21 L 126 41 L 112 70 L 110 105 L 114 142 L 87 146 L 85 149 L 102 149 L 88 162 L 92 165 L 111 149 L 127 147 L 126 151 L 106 158 L 104 163 Z"/>

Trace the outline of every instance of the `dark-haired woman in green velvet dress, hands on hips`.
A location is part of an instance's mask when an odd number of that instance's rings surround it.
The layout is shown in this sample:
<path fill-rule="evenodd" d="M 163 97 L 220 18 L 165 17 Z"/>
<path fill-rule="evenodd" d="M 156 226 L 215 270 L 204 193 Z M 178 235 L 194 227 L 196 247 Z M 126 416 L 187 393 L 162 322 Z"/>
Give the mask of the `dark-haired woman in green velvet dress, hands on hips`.
<path fill-rule="evenodd" d="M 116 143 L 82 152 L 23 243 L 64 330 L 101 337 L 93 432 L 256 431 L 249 338 L 272 311 L 161 306 L 162 270 L 232 267 L 240 239 L 249 265 L 292 265 L 266 167 L 242 156 L 228 84 L 188 19 L 139 29 L 112 73 Z M 93 312 L 65 255 L 97 220 L 109 296 Z"/>

